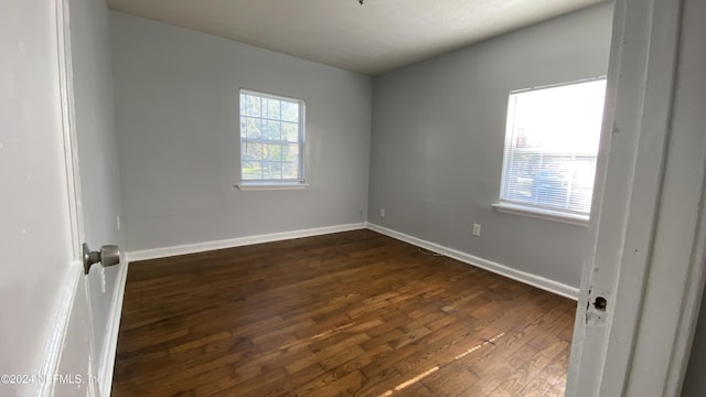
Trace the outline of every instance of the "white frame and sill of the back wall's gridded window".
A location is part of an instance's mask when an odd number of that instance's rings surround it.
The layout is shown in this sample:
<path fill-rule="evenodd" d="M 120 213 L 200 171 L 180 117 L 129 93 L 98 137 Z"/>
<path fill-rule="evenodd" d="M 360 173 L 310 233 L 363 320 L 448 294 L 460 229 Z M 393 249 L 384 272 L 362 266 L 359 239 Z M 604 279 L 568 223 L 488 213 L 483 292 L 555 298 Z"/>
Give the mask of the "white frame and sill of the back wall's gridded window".
<path fill-rule="evenodd" d="M 243 148 L 244 144 L 248 141 L 247 138 L 243 138 L 242 129 L 242 100 L 244 95 L 257 96 L 259 98 L 269 98 L 277 100 L 286 100 L 290 103 L 299 104 L 299 121 L 298 121 L 298 144 L 299 144 L 299 160 L 298 160 L 298 178 L 297 179 L 261 179 L 261 180 L 250 180 L 243 178 Z M 301 98 L 284 96 L 278 94 L 264 93 L 255 89 L 240 88 L 238 93 L 238 178 L 239 183 L 236 184 L 236 187 L 242 191 L 248 190 L 291 190 L 291 189 L 304 189 L 308 186 L 304 178 L 304 150 L 306 150 L 306 140 L 304 140 L 304 129 L 306 129 L 306 101 Z M 282 121 L 281 118 L 279 121 Z M 279 140 L 276 142 L 285 142 L 284 140 Z M 263 141 L 261 143 L 266 143 Z"/>

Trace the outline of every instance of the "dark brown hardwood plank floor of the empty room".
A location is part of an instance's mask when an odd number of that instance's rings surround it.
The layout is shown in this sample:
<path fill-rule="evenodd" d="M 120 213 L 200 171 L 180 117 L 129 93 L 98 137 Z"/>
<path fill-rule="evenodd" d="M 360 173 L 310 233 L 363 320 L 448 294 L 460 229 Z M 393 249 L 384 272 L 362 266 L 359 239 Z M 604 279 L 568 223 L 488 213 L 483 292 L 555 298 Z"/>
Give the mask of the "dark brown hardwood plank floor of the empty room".
<path fill-rule="evenodd" d="M 563 396 L 576 303 L 371 230 L 130 265 L 114 396 Z"/>

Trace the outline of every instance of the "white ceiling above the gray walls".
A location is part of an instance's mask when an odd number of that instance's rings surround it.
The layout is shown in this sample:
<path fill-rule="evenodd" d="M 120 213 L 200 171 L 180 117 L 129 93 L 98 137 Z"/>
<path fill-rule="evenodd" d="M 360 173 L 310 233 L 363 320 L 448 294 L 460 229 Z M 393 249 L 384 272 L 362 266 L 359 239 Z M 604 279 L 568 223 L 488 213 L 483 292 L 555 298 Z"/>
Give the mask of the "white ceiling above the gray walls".
<path fill-rule="evenodd" d="M 602 0 L 108 0 L 124 11 L 370 75 Z"/>

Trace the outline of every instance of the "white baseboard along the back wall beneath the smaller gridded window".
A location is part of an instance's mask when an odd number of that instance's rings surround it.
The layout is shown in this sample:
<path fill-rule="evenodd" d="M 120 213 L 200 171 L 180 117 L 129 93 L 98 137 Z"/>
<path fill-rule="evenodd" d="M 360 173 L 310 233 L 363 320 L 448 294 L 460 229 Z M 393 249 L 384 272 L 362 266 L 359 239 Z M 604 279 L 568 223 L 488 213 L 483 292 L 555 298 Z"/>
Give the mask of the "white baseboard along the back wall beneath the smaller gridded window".
<path fill-rule="evenodd" d="M 215 250 L 215 249 L 242 247 L 242 246 L 247 246 L 253 244 L 271 243 L 271 242 L 279 242 L 279 240 L 286 240 L 286 239 L 292 239 L 292 238 L 319 236 L 319 235 L 331 234 L 331 233 L 359 230 L 359 229 L 366 228 L 366 226 L 367 226 L 367 223 L 361 222 L 361 223 L 354 223 L 354 224 L 315 227 L 315 228 L 308 228 L 308 229 L 301 229 L 301 230 L 272 233 L 272 234 L 266 234 L 266 235 L 237 237 L 237 238 L 216 240 L 216 242 L 185 244 L 185 245 L 173 246 L 173 247 L 145 249 L 145 250 L 128 253 L 128 260 L 133 262 L 137 260 L 165 258 L 165 257 L 171 257 L 176 255 L 195 254 L 195 253 L 203 253 L 203 251 Z"/>

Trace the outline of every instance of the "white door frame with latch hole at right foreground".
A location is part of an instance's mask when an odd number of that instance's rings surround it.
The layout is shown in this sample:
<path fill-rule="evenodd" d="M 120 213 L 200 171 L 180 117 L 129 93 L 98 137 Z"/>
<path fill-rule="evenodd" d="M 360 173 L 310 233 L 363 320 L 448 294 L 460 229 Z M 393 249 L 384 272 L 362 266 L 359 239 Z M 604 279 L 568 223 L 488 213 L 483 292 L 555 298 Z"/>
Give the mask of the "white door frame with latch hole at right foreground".
<path fill-rule="evenodd" d="M 567 396 L 678 396 L 706 276 L 703 0 L 618 0 Z"/>

